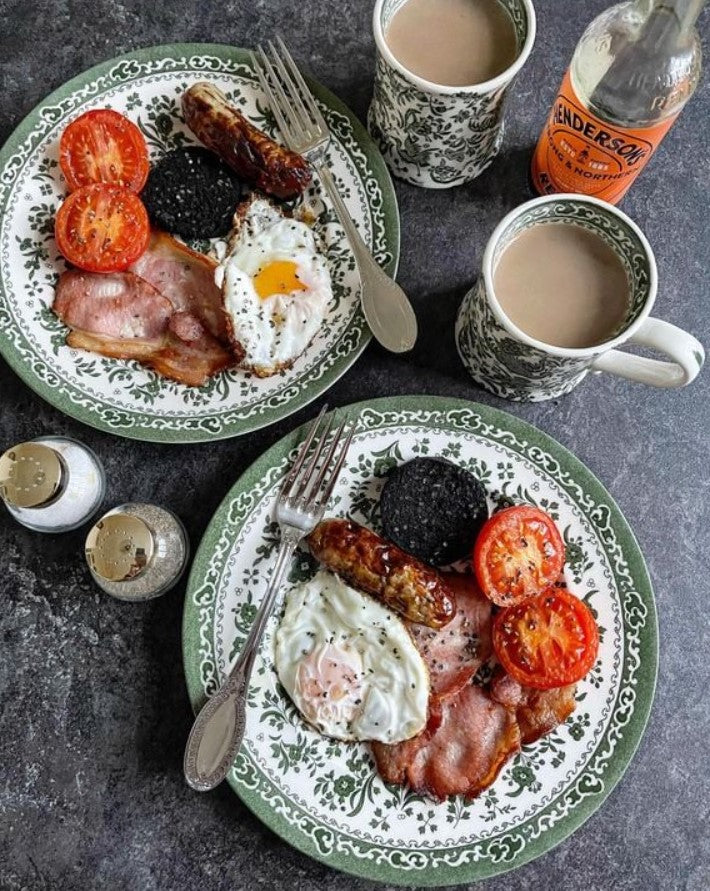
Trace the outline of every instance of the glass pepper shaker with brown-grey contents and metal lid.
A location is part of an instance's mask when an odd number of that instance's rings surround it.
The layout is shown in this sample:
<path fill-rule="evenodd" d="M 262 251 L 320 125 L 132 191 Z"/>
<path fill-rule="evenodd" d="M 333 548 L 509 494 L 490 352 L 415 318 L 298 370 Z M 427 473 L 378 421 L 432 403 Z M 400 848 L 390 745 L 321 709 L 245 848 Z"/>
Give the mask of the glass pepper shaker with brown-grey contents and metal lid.
<path fill-rule="evenodd" d="M 120 600 L 150 600 L 183 574 L 190 545 L 172 511 L 121 504 L 98 520 L 86 538 L 86 560 L 96 584 Z"/>

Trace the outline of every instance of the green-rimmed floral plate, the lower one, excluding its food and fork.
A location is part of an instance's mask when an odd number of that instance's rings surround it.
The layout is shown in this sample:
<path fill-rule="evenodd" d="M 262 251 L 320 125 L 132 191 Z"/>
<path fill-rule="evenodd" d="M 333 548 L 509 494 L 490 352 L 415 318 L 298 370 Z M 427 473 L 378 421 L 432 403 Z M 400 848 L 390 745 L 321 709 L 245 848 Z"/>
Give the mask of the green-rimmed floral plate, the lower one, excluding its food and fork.
<path fill-rule="evenodd" d="M 658 636 L 651 584 L 609 493 L 534 427 L 481 405 L 429 396 L 378 399 L 349 411 L 358 417 L 358 433 L 331 513 L 377 528 L 387 472 L 426 454 L 469 468 L 492 505 L 508 499 L 539 505 L 563 533 L 570 588 L 596 612 L 599 661 L 579 684 L 577 708 L 562 726 L 526 746 L 475 801 L 436 804 L 385 785 L 366 745 L 328 740 L 301 720 L 274 670 L 274 617 L 229 783 L 282 838 L 336 869 L 401 885 L 471 882 L 561 842 L 623 774 L 653 700 Z M 246 471 L 195 557 L 183 621 L 195 711 L 239 652 L 267 584 L 276 491 L 302 433 L 282 439 Z M 290 583 L 312 572 L 311 558 L 301 554 Z"/>

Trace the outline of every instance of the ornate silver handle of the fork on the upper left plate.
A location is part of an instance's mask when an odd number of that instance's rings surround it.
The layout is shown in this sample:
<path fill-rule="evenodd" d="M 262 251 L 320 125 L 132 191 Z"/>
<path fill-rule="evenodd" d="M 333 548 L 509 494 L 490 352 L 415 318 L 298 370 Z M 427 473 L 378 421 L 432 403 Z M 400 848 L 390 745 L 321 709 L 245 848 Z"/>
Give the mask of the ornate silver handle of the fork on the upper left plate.
<path fill-rule="evenodd" d="M 310 160 L 333 202 L 355 255 L 362 284 L 362 311 L 367 324 L 382 346 L 391 352 L 411 350 L 417 339 L 417 319 L 406 294 L 382 269 L 362 240 L 323 154 Z"/>

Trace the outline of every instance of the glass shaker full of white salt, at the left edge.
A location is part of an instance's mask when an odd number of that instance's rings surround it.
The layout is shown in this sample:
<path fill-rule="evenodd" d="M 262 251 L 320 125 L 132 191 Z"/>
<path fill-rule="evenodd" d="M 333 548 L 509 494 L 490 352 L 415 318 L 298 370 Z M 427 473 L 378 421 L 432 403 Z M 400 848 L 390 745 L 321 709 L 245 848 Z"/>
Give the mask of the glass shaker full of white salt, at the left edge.
<path fill-rule="evenodd" d="M 0 456 L 0 498 L 28 529 L 76 529 L 96 513 L 105 492 L 101 462 L 74 439 L 43 436 Z"/>

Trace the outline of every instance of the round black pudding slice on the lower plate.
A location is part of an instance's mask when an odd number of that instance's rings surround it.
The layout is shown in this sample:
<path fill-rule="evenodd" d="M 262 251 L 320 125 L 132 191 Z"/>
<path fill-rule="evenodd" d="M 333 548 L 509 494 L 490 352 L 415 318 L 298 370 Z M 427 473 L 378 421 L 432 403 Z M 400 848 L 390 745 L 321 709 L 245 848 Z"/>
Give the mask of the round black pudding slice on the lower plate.
<path fill-rule="evenodd" d="M 395 467 L 380 508 L 385 536 L 435 566 L 467 557 L 488 518 L 483 486 L 444 458 L 414 458 Z"/>

